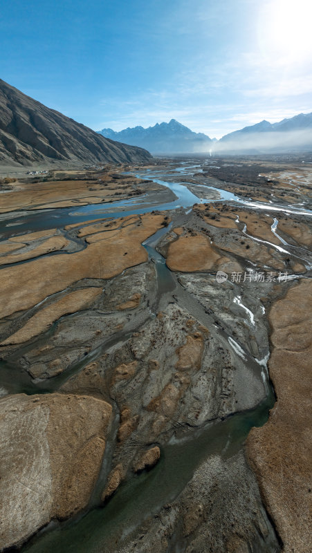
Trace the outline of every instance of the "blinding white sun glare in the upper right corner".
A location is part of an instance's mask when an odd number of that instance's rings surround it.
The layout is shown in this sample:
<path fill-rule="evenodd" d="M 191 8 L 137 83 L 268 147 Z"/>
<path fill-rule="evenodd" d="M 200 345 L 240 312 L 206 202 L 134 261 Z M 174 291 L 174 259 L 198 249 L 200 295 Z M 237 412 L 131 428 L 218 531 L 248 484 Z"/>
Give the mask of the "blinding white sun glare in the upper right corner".
<path fill-rule="evenodd" d="M 270 0 L 259 17 L 259 46 L 271 62 L 306 62 L 312 54 L 311 0 Z"/>

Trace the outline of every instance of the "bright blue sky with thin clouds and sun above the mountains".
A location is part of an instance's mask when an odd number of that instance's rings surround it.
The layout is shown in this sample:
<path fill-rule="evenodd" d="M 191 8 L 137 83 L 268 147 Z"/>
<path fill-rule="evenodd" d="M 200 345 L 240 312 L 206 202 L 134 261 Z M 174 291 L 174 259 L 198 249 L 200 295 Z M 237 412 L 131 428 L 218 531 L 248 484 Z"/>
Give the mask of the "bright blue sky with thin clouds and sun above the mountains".
<path fill-rule="evenodd" d="M 310 0 L 4 0 L 0 77 L 92 129 L 312 111 Z"/>

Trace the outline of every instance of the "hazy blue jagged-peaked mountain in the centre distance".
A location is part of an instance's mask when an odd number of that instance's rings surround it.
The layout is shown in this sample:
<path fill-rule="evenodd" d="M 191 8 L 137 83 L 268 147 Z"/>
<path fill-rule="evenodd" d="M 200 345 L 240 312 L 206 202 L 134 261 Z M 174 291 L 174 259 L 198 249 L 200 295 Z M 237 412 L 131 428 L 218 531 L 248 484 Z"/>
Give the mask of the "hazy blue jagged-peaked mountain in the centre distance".
<path fill-rule="evenodd" d="M 144 129 L 143 126 L 128 127 L 116 132 L 112 129 L 98 131 L 102 136 L 147 148 L 152 153 L 179 153 L 207 151 L 212 147 L 213 141 L 203 133 L 194 133 L 187 126 L 175 119 L 169 123 L 156 123 Z"/>

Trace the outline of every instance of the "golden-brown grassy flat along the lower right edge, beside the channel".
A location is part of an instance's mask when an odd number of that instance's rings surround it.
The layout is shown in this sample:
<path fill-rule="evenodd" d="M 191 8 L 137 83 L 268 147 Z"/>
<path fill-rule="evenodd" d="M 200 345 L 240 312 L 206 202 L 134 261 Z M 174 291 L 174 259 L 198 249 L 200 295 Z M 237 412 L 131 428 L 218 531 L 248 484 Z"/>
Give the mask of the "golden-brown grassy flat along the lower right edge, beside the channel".
<path fill-rule="evenodd" d="M 311 280 L 288 290 L 270 310 L 273 351 L 268 368 L 277 402 L 268 422 L 252 429 L 247 440 L 248 459 L 285 553 L 304 553 L 311 545 L 311 313 Z"/>

